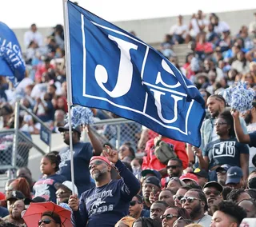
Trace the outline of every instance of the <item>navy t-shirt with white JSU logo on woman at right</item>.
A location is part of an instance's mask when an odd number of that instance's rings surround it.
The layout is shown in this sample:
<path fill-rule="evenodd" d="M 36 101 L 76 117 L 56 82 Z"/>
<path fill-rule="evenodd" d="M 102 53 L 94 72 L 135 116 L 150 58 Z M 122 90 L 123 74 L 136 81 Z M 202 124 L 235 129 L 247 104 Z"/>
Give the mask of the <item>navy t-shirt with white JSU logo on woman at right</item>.
<path fill-rule="evenodd" d="M 240 154 L 249 154 L 248 146 L 239 143 L 236 138 L 228 140 L 218 139 L 206 145 L 202 155 L 209 157 L 209 169 L 216 165 L 229 164 L 232 166 L 240 165 Z"/>

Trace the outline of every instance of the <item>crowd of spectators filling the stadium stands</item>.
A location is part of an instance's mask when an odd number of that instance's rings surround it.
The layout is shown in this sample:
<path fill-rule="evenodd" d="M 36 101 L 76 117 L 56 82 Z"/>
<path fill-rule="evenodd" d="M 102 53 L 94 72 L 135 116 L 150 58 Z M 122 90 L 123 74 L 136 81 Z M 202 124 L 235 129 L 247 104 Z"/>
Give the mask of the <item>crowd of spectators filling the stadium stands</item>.
<path fill-rule="evenodd" d="M 74 127 L 74 187 L 65 121 L 63 26 L 55 26 L 45 38 L 31 25 L 24 34 L 26 78 L 14 88 L 0 77 L 0 129 L 14 128 L 14 104 L 19 100 L 53 133 L 62 133 L 66 147 L 42 157 L 39 179 L 33 179 L 27 168 L 31 146 L 22 150 L 17 177 L 7 181 L 0 193 L 0 226 L 26 226 L 24 211 L 34 202 L 46 201 L 70 210 L 69 219 L 77 227 L 238 227 L 246 217 L 255 219 L 245 219 L 241 226 L 256 226 L 256 99 L 251 110 L 239 114 L 226 108 L 222 97 L 222 90 L 239 81 L 256 90 L 254 16 L 236 34 L 217 14 L 206 17 L 198 10 L 189 24 L 179 15 L 158 49 L 194 82 L 206 102 L 201 147 L 134 123 L 121 125 L 116 150 L 115 125 Z M 190 50 L 183 65 L 173 48 L 180 44 Z M 92 111 L 95 121 L 118 117 Z M 30 139 L 31 134 L 40 133 L 41 124 L 30 114 L 21 111 L 18 120 L 19 129 Z M 94 129 L 102 132 L 106 144 Z M 81 137 L 85 131 L 87 142 Z M 10 134 L 0 133 L 0 165 L 6 165 L 6 153 L 12 150 L 7 140 L 12 145 Z M 166 153 L 166 149 L 171 157 L 157 157 L 156 153 Z M 52 210 L 34 218 L 38 218 L 37 226 L 65 226 L 60 213 Z"/>

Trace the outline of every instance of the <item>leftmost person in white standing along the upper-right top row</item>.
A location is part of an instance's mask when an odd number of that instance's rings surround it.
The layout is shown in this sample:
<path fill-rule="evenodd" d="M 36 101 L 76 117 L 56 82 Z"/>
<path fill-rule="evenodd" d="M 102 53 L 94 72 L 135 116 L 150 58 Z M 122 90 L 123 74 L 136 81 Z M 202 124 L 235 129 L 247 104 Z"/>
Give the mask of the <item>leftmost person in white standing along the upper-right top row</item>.
<path fill-rule="evenodd" d="M 170 28 L 170 35 L 173 37 L 174 44 L 181 44 L 185 42 L 186 35 L 188 33 L 188 27 L 183 24 L 182 15 L 178 16 L 178 23 Z"/>

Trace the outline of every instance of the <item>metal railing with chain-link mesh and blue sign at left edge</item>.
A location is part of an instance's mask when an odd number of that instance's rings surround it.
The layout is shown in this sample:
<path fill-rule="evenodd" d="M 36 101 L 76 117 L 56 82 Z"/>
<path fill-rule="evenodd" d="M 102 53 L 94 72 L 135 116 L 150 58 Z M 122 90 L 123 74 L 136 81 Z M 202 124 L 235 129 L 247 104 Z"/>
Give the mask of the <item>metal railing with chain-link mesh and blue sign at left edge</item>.
<path fill-rule="evenodd" d="M 50 151 L 51 141 L 50 129 L 47 129 L 46 125 L 34 113 L 31 113 L 19 102 L 16 102 L 14 111 L 14 129 L 2 129 L 0 131 L 0 173 L 6 173 L 7 171 L 9 177 L 13 173 L 15 174 L 14 170 L 28 165 L 31 149 L 33 152 L 42 153 L 42 155 L 46 154 L 44 150 L 33 142 L 30 133 L 19 129 L 21 111 L 25 111 L 27 115 L 34 118 L 34 121 L 41 124 L 40 138 L 46 144 L 48 143 L 48 151 Z"/>

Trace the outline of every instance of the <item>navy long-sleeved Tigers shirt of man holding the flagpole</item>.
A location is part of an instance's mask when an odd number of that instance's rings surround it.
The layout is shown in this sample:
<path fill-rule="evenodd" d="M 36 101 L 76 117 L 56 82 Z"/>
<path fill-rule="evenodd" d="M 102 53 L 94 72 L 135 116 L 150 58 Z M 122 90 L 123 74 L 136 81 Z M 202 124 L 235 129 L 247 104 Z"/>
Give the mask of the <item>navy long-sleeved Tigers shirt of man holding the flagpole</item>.
<path fill-rule="evenodd" d="M 122 217 L 128 215 L 130 201 L 138 193 L 140 183 L 122 161 L 115 166 L 122 179 L 82 193 L 79 210 L 72 212 L 73 226 L 114 227 Z"/>

